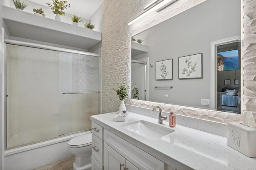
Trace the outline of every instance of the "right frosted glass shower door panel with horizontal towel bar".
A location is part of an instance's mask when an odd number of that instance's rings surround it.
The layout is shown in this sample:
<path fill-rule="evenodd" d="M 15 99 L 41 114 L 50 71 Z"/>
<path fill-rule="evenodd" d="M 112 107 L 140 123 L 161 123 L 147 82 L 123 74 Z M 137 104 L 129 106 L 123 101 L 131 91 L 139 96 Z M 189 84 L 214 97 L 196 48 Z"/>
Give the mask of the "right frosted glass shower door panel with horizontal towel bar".
<path fill-rule="evenodd" d="M 91 128 L 90 115 L 99 113 L 99 94 L 62 93 L 98 92 L 99 61 L 98 57 L 59 53 L 60 134 Z"/>

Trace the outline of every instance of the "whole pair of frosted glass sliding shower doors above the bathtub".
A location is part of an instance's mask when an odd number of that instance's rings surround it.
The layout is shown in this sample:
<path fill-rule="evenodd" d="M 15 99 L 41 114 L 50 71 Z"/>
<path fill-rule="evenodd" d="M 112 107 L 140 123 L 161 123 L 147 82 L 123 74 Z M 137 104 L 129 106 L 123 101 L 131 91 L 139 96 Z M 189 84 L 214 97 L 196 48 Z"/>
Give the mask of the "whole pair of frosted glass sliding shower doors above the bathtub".
<path fill-rule="evenodd" d="M 100 55 L 64 51 L 6 44 L 7 149 L 90 130 Z"/>

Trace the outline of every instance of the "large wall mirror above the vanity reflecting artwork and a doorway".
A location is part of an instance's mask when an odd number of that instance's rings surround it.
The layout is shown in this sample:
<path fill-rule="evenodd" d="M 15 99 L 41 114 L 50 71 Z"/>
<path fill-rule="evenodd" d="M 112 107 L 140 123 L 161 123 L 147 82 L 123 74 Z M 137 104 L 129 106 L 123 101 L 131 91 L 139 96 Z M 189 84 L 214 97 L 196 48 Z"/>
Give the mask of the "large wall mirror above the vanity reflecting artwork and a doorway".
<path fill-rule="evenodd" d="M 240 9 L 240 0 L 206 0 L 135 35 L 143 42 L 131 45 L 131 98 L 240 114 L 239 40 L 217 45 L 216 63 L 211 62 L 212 42 L 240 37 Z M 222 67 L 229 69 L 217 70 Z"/>

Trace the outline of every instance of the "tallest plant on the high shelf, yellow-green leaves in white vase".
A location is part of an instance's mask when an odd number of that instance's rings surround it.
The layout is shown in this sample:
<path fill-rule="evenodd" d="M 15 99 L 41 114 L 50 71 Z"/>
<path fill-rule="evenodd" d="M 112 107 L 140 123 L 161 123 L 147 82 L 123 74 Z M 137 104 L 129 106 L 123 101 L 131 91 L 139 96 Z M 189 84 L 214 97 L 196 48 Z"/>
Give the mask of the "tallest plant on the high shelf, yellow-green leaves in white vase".
<path fill-rule="evenodd" d="M 52 13 L 56 14 L 55 20 L 60 21 L 60 16 L 65 16 L 64 9 L 70 8 L 70 4 L 67 1 L 52 0 L 52 4 L 46 3 L 52 10 Z"/>

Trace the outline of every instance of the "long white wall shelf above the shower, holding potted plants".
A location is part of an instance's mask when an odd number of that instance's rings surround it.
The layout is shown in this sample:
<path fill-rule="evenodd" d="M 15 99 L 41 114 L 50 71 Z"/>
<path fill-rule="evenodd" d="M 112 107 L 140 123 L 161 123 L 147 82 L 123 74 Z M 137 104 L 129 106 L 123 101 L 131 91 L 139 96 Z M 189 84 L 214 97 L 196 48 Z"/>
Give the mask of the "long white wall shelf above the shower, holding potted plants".
<path fill-rule="evenodd" d="M 3 6 L 10 36 L 89 49 L 101 41 L 101 33 Z"/>

